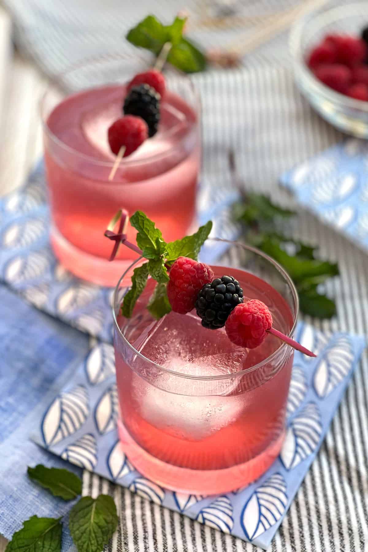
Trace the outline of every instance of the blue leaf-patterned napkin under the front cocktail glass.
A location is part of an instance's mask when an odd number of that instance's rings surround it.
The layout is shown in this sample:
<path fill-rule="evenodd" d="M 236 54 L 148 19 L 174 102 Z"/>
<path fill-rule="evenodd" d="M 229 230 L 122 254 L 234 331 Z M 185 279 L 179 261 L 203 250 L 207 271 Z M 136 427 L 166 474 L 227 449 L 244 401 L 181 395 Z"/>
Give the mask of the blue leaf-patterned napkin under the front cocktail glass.
<path fill-rule="evenodd" d="M 141 476 L 118 440 L 114 352 L 99 343 L 47 404 L 34 440 L 65 460 L 162 506 L 266 549 L 316 456 L 365 345 L 361 337 L 324 335 L 299 324 L 297 339 L 318 353 L 295 353 L 285 443 L 253 485 L 222 496 L 175 493 Z"/>

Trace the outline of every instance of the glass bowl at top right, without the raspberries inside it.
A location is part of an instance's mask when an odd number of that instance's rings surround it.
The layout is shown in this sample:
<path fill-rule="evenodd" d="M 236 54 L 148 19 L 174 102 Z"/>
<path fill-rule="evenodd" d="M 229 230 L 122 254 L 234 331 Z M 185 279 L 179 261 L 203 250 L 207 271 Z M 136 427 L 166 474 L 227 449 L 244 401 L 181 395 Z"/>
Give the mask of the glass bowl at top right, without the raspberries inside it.
<path fill-rule="evenodd" d="M 309 52 L 330 33 L 360 36 L 368 22 L 368 2 L 319 9 L 298 20 L 290 34 L 290 51 L 298 88 L 330 124 L 343 132 L 368 138 L 368 102 L 349 98 L 325 86 L 309 70 Z"/>

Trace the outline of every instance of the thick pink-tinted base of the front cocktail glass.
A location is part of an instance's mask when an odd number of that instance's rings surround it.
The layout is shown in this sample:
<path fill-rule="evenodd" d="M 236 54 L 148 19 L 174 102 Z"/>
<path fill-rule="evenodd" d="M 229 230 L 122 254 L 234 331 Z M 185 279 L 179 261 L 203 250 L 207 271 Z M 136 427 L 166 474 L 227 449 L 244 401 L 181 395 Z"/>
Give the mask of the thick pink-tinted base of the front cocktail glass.
<path fill-rule="evenodd" d="M 134 468 L 158 485 L 191 495 L 217 495 L 240 489 L 265 473 L 280 453 L 286 431 L 264 452 L 245 462 L 220 470 L 191 470 L 158 460 L 141 448 L 118 421 L 120 442 Z"/>

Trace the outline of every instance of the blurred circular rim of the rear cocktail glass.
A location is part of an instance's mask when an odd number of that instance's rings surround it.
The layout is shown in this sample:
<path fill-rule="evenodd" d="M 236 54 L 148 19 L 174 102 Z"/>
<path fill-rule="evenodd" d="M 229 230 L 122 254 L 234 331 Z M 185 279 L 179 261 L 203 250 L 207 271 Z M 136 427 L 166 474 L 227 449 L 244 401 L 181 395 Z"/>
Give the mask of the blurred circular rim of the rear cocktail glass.
<path fill-rule="evenodd" d="M 41 119 L 41 126 L 42 126 L 43 131 L 45 132 L 45 134 L 48 135 L 48 137 L 55 143 L 55 145 L 57 147 L 62 148 L 62 150 L 66 151 L 68 153 L 72 153 L 73 155 L 75 155 L 77 158 L 80 158 L 81 160 L 93 163 L 96 166 L 108 167 L 108 168 L 112 168 L 114 166 L 115 160 L 111 160 L 111 161 L 99 160 L 96 157 L 92 157 L 90 155 L 87 155 L 86 153 L 82 153 L 82 152 L 76 150 L 74 147 L 71 147 L 71 146 L 67 145 L 65 142 L 63 142 L 62 140 L 60 140 L 60 138 L 58 138 L 54 134 L 54 132 L 52 132 L 50 130 L 48 124 L 46 123 L 46 117 L 44 116 L 44 105 L 45 105 L 45 102 L 46 102 L 46 98 L 48 97 L 48 94 L 50 94 L 50 91 L 52 90 L 52 88 L 56 88 L 58 85 L 61 86 L 61 87 L 64 86 L 64 83 L 62 81 L 62 77 L 67 76 L 70 73 L 72 73 L 73 71 L 77 71 L 78 69 L 80 69 L 82 67 L 84 68 L 84 67 L 86 67 L 86 65 L 92 65 L 92 63 L 98 63 L 98 62 L 109 61 L 109 60 L 110 61 L 114 61 L 114 60 L 127 60 L 127 61 L 129 61 L 130 57 L 131 56 L 129 56 L 128 54 L 121 54 L 119 52 L 113 52 L 112 54 L 101 54 L 101 55 L 98 55 L 98 56 L 87 57 L 85 60 L 82 60 L 82 61 L 77 62 L 77 63 L 73 63 L 68 68 L 66 68 L 65 71 L 62 71 L 58 75 L 55 75 L 54 77 L 52 77 L 48 81 L 48 83 L 46 84 L 45 91 L 41 95 L 41 98 L 38 102 L 38 114 L 39 114 L 40 119 Z M 137 55 L 135 57 L 138 58 L 139 60 L 146 61 L 145 57 L 143 57 L 141 55 Z M 182 71 L 180 71 L 180 70 L 178 70 L 174 67 L 172 68 L 172 72 L 174 72 L 174 74 L 176 74 L 177 76 L 180 76 L 181 78 L 185 79 L 185 81 L 190 85 L 191 91 L 194 94 L 194 103 L 195 103 L 194 111 L 197 115 L 198 113 L 201 112 L 201 97 L 199 96 L 199 92 L 198 92 L 197 87 L 194 85 L 192 79 L 186 73 L 183 73 Z M 98 88 L 102 88 L 102 87 L 105 87 L 105 86 L 113 86 L 114 84 L 123 85 L 124 83 L 121 83 L 121 82 L 117 83 L 117 82 L 111 81 L 111 82 L 106 82 L 104 84 L 101 84 L 101 86 L 99 85 Z M 91 88 L 82 88 L 80 91 L 71 93 L 71 95 L 77 94 L 77 93 L 83 92 L 83 91 L 88 91 L 90 89 Z M 56 104 L 56 105 L 59 105 L 59 104 Z M 56 105 L 54 107 L 56 107 Z M 196 124 L 198 125 L 198 120 L 197 120 Z M 172 129 L 167 130 L 164 133 L 164 136 L 165 137 L 170 136 L 170 133 L 172 133 Z M 132 167 L 132 166 L 137 165 L 137 164 L 157 162 L 160 159 L 167 156 L 170 152 L 174 151 L 176 147 L 177 147 L 177 144 L 170 146 L 167 150 L 161 151 L 160 153 L 152 153 L 151 155 L 148 155 L 147 157 L 143 157 L 143 158 L 136 159 L 136 160 L 128 159 L 127 157 L 124 157 L 122 159 L 122 161 L 120 161 L 120 166 L 123 167 L 123 168 L 124 167 L 129 168 L 129 167 Z"/>

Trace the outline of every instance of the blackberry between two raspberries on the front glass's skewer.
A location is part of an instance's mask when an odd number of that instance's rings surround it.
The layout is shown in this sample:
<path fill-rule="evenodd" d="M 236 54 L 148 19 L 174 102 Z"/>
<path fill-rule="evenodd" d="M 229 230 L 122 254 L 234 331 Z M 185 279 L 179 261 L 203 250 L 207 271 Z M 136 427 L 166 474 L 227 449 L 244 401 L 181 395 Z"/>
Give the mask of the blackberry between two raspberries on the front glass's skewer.
<path fill-rule="evenodd" d="M 202 319 L 202 326 L 217 330 L 225 325 L 230 312 L 242 302 L 243 290 L 238 280 L 232 276 L 215 278 L 197 295 L 197 315 Z"/>

